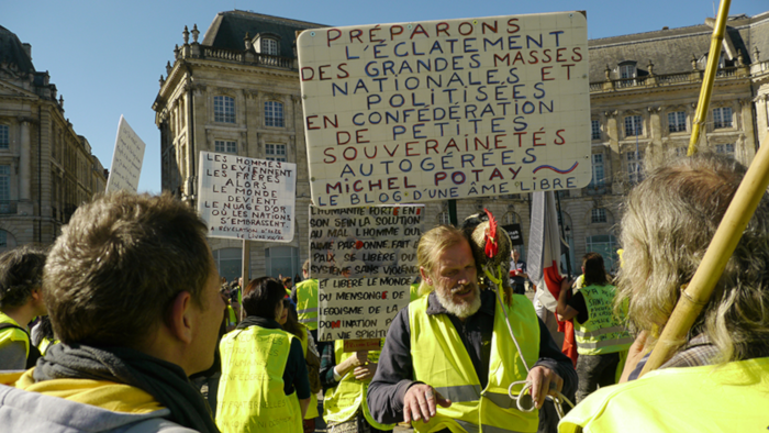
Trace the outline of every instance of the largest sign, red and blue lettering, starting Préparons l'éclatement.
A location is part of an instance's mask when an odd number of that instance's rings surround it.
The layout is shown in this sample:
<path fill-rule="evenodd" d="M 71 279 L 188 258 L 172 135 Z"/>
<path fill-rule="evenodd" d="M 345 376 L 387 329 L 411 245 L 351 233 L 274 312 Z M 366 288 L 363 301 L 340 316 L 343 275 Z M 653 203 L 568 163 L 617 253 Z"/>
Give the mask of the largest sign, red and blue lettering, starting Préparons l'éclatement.
<path fill-rule="evenodd" d="M 297 46 L 319 207 L 590 181 L 583 13 L 319 29 Z"/>

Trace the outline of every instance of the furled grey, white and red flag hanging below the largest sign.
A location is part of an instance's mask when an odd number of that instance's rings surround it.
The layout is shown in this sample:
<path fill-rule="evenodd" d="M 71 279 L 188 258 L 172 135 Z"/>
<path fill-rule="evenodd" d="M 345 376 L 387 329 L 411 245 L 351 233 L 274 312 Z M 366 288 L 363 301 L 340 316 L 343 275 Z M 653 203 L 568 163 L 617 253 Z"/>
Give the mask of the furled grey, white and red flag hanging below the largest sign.
<path fill-rule="evenodd" d="M 539 301 L 555 314 L 560 284 L 560 246 L 558 215 L 555 193 L 535 192 L 532 195 L 532 227 L 528 236 L 528 278 L 539 288 L 546 288 Z M 537 290 L 538 291 L 538 290 Z M 549 296 L 548 296 L 549 295 Z M 557 319 L 557 317 L 556 317 Z M 561 351 L 577 365 L 577 342 L 571 322 L 558 321 L 558 331 L 564 333 Z"/>

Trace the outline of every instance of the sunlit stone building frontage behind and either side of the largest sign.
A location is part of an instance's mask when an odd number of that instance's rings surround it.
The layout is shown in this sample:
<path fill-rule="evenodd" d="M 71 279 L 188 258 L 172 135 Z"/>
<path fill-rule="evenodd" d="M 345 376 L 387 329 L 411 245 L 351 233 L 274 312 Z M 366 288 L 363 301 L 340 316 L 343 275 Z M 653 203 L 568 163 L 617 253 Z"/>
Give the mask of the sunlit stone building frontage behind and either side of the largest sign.
<path fill-rule="evenodd" d="M 711 25 L 709 20 L 589 42 L 593 178 L 586 188 L 557 193 L 573 270 L 589 251 L 602 253 L 609 266 L 615 266 L 624 196 L 643 179 L 647 165 L 686 154 Z M 309 254 L 310 188 L 294 43 L 296 31 L 319 26 L 253 12 L 222 12 L 201 42 L 197 26 L 185 30 L 174 64 L 168 63 L 166 77 L 160 77 L 154 110 L 164 189 L 194 206 L 200 151 L 283 158 L 298 165 L 294 241 L 253 243 L 252 276 L 294 275 Z M 768 96 L 769 12 L 732 16 L 700 147 L 748 164 L 769 131 Z M 452 213 L 461 221 L 483 208 L 502 224 L 520 223 L 527 241 L 528 195 L 427 202 L 426 224 L 448 223 Z M 211 243 L 222 274 L 237 275 L 241 243 Z"/>

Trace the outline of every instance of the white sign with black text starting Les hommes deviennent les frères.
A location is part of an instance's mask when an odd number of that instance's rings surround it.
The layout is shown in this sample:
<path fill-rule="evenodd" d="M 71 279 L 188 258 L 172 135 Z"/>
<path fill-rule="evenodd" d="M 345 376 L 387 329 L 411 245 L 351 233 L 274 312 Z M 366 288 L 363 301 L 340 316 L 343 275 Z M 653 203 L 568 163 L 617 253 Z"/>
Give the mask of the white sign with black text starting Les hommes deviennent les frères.
<path fill-rule="evenodd" d="M 296 164 L 201 152 L 199 168 L 198 212 L 209 236 L 293 240 Z"/>

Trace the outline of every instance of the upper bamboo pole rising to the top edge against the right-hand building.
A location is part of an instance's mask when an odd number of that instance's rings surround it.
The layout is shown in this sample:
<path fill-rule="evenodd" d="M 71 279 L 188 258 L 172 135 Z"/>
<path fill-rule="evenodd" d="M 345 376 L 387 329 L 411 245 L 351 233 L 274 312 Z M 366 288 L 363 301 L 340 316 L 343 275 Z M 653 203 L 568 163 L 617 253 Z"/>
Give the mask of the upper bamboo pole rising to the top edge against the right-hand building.
<path fill-rule="evenodd" d="M 694 114 L 694 121 L 692 122 L 692 136 L 689 140 L 687 156 L 692 156 L 696 153 L 696 142 L 700 141 L 700 129 L 705 124 L 705 119 L 707 119 L 707 108 L 711 104 L 711 93 L 713 92 L 715 73 L 718 69 L 721 46 L 724 42 L 724 32 L 726 31 L 726 20 L 729 15 L 731 3 L 732 0 L 721 0 L 721 4 L 718 5 L 718 16 L 715 21 L 715 27 L 713 27 L 711 49 L 707 53 L 707 67 L 705 67 L 705 75 L 702 79 L 700 100 L 696 102 L 696 114 Z"/>

